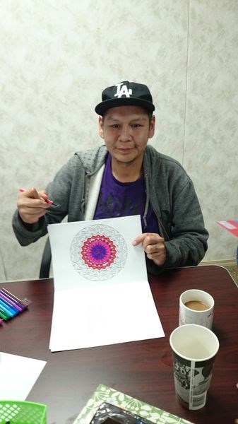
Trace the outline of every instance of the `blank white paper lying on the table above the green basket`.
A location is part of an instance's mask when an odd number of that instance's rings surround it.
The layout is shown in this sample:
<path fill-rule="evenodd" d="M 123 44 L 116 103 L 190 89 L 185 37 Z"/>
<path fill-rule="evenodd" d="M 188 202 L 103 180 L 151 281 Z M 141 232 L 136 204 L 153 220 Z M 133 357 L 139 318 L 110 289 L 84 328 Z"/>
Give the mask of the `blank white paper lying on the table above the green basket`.
<path fill-rule="evenodd" d="M 25 401 L 46 362 L 0 352 L 0 399 Z"/>

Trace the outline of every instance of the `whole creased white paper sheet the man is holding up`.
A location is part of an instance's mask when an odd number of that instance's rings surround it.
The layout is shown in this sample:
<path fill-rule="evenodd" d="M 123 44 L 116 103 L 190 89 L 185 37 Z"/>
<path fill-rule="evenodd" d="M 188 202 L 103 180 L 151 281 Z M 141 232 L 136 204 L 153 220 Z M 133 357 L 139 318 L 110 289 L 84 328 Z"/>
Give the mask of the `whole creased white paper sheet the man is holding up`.
<path fill-rule="evenodd" d="M 48 232 L 54 269 L 52 351 L 165 336 L 143 248 L 132 245 L 141 233 L 140 216 L 54 224 Z M 112 256 L 114 247 L 117 251 L 112 266 L 100 271 L 92 268 L 90 253 L 82 253 L 83 243 L 84 252 L 97 249 L 92 237 L 98 233 L 99 243 L 103 245 L 102 236 L 112 243 Z"/>

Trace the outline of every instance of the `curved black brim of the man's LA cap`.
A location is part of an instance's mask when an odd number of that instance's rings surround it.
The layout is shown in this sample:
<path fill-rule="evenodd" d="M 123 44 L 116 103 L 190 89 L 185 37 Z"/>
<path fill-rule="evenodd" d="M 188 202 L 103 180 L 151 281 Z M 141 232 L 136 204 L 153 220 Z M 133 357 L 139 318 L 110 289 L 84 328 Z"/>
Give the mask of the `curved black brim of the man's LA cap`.
<path fill-rule="evenodd" d="M 153 112 L 155 110 L 153 103 L 148 102 L 148 100 L 141 100 L 138 98 L 119 98 L 104 100 L 104 102 L 99 103 L 95 107 L 95 112 L 102 116 L 105 114 L 105 112 L 107 112 L 108 109 L 112 109 L 112 107 L 118 106 L 140 106 L 149 112 Z"/>

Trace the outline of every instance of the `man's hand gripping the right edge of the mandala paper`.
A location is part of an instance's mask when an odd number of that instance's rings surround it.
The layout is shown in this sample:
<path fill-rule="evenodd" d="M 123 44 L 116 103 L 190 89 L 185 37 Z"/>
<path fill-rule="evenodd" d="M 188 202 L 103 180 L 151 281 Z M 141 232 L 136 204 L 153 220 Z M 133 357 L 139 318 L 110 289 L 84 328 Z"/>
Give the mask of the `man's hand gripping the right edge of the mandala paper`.
<path fill-rule="evenodd" d="M 133 246 L 142 244 L 145 253 L 149 259 L 152 259 L 156 265 L 162 266 L 166 261 L 165 240 L 155 232 L 144 232 L 133 240 Z"/>

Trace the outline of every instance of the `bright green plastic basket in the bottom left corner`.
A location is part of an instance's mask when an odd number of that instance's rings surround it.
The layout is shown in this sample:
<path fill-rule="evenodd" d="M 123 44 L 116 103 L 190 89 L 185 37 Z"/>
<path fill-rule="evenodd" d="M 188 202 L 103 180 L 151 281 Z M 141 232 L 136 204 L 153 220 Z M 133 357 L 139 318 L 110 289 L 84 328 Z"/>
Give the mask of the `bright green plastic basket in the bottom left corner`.
<path fill-rule="evenodd" d="M 0 401 L 0 424 L 47 424 L 46 414 L 43 404 Z"/>

